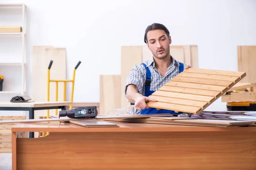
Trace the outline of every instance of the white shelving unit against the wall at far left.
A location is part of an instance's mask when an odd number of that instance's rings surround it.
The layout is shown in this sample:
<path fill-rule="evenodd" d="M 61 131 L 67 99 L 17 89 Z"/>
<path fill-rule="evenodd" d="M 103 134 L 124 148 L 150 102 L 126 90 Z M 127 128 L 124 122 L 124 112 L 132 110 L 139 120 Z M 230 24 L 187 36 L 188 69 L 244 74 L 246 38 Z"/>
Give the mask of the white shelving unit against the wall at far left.
<path fill-rule="evenodd" d="M 21 69 L 21 91 L 0 91 L 0 94 L 19 94 L 19 95 L 26 95 L 26 5 L 24 3 L 0 3 L 0 9 L 2 8 L 22 8 L 22 24 L 18 25 L 22 27 L 22 32 L 0 32 L 1 37 L 11 37 L 17 36 L 22 37 L 22 60 L 21 62 L 1 62 L 3 61 L 3 57 L 0 55 L 0 66 L 1 67 L 20 67 Z M 0 13 L 1 15 L 1 13 Z M 0 23 L 1 26 L 1 23 Z M 17 25 L 16 25 L 17 26 Z M 2 58 L 2 59 L 1 59 Z M 12 68 L 10 68 L 12 69 Z M 5 77 L 5 76 L 4 76 Z M 4 84 L 8 83 L 4 81 Z M 4 85 L 3 85 L 4 86 Z"/>

